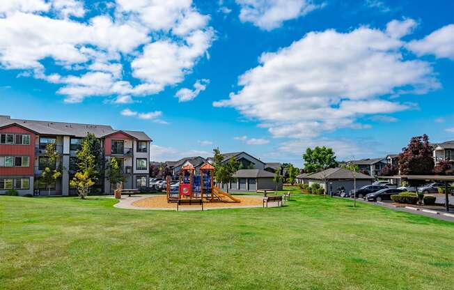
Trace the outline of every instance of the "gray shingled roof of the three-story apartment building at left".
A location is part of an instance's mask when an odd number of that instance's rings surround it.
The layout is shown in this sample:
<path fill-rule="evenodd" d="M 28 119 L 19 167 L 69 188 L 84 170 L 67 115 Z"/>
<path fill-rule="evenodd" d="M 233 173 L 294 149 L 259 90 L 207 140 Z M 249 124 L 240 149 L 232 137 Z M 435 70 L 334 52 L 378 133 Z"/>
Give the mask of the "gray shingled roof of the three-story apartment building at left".
<path fill-rule="evenodd" d="M 0 127 L 17 123 L 22 127 L 28 128 L 29 130 L 38 132 L 40 135 L 68 135 L 74 137 L 86 137 L 87 133 L 92 133 L 97 138 L 104 137 L 106 135 L 113 134 L 115 132 L 125 132 L 132 137 L 152 141 L 148 135 L 140 131 L 130 130 L 116 130 L 110 125 L 93 125 L 93 124 L 81 124 L 81 123 L 63 123 L 54 121 L 34 121 L 34 120 L 22 120 L 22 119 L 11 119 L 10 116 L 0 116 Z"/>

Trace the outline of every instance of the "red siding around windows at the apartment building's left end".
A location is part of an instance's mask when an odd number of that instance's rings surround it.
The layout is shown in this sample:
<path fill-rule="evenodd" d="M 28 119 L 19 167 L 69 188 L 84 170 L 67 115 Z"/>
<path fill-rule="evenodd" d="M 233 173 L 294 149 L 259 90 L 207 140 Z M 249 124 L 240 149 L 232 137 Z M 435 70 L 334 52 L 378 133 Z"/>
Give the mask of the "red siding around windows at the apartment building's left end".
<path fill-rule="evenodd" d="M 33 176 L 35 161 L 35 134 L 17 125 L 10 125 L 0 129 L 0 133 L 29 134 L 30 145 L 0 144 L 0 155 L 29 156 L 29 167 L 0 167 L 0 176 Z"/>

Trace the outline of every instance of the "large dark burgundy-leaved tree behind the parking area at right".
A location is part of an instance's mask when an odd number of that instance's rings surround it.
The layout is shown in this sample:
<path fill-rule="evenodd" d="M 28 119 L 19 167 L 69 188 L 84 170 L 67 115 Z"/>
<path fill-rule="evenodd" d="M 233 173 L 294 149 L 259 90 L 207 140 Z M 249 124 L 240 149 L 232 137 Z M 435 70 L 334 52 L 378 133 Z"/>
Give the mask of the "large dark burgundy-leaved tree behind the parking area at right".
<path fill-rule="evenodd" d="M 432 174 L 434 170 L 433 148 L 428 135 L 410 139 L 407 147 L 399 154 L 399 169 L 403 175 Z"/>

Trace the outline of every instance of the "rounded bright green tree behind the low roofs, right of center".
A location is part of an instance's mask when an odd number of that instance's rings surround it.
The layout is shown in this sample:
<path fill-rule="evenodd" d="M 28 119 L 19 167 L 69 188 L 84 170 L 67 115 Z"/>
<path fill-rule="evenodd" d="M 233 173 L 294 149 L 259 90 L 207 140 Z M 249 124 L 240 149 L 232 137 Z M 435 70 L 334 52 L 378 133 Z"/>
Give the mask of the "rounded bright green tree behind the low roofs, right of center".
<path fill-rule="evenodd" d="M 333 149 L 325 146 L 316 146 L 314 149 L 307 148 L 303 154 L 304 170 L 308 173 L 319 172 L 338 166 Z"/>

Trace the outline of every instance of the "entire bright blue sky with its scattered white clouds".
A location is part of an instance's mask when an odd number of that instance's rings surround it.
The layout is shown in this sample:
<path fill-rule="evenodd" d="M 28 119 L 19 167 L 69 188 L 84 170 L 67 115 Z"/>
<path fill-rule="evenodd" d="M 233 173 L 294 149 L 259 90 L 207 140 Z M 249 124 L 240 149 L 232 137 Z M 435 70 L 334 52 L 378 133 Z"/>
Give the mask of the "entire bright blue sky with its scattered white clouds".
<path fill-rule="evenodd" d="M 153 160 L 302 166 L 454 139 L 453 1 L 10 0 L 0 114 L 143 130 Z"/>

